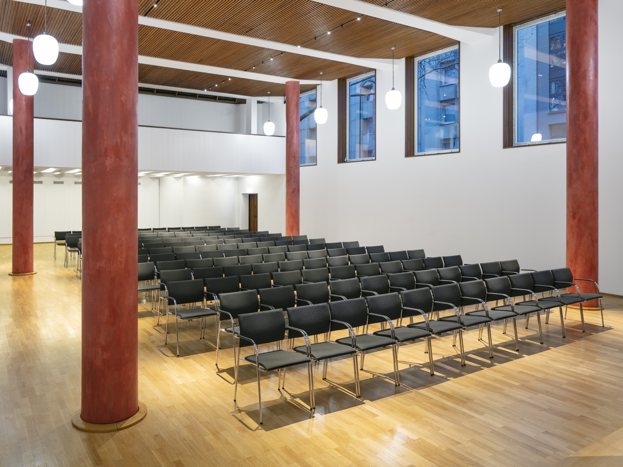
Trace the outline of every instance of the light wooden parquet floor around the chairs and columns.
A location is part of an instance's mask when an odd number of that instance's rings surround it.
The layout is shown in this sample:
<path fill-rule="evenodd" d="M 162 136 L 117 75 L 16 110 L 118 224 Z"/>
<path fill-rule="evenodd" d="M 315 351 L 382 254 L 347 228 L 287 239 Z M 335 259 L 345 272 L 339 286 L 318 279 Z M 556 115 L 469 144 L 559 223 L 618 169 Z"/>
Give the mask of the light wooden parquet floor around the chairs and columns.
<path fill-rule="evenodd" d="M 35 246 L 37 275 L 14 277 L 11 246 L 0 246 L 0 467 L 622 465 L 623 300 L 616 298 L 605 300 L 606 328 L 597 312 L 586 312 L 586 334 L 577 311 L 569 310 L 567 339 L 552 316 L 543 346 L 535 319 L 529 329 L 519 321 L 520 352 L 493 326 L 492 360 L 477 330 L 467 332 L 465 367 L 452 336 L 434 339 L 434 377 L 424 344 L 403 346 L 401 360 L 415 363 L 401 364 L 405 387 L 361 372 L 363 400 L 315 367 L 313 417 L 304 408 L 306 367 L 288 370 L 282 393 L 276 375 L 265 375 L 260 427 L 252 367 L 241 367 L 232 400 L 231 344 L 224 342 L 217 372 L 199 329 L 181 324 L 181 357 L 174 357 L 174 334 L 164 346 L 163 328 L 139 297 L 138 384 L 148 415 L 122 432 L 78 432 L 70 418 L 80 408 L 80 280 L 75 262 L 64 268 L 52 248 Z M 212 326 L 206 337 L 214 342 Z M 391 376 L 391 350 L 369 354 L 366 369 Z M 331 362 L 328 377 L 352 390 L 351 360 Z"/>

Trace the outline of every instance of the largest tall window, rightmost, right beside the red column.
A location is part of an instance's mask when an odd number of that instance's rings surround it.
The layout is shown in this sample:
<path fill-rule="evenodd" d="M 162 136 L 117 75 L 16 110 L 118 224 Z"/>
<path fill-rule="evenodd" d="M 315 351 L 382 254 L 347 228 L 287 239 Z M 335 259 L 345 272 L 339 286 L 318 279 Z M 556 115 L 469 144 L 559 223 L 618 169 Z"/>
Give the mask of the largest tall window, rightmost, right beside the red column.
<path fill-rule="evenodd" d="M 566 16 L 513 27 L 513 144 L 557 143 L 567 137 Z"/>

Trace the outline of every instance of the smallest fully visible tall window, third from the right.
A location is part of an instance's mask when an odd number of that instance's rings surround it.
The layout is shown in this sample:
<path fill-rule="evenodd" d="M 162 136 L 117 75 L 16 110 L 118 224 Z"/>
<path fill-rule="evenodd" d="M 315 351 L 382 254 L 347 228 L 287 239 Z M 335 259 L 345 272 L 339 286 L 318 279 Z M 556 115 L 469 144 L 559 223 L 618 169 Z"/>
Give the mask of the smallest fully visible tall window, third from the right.
<path fill-rule="evenodd" d="M 376 74 L 346 80 L 346 162 L 376 158 Z"/>

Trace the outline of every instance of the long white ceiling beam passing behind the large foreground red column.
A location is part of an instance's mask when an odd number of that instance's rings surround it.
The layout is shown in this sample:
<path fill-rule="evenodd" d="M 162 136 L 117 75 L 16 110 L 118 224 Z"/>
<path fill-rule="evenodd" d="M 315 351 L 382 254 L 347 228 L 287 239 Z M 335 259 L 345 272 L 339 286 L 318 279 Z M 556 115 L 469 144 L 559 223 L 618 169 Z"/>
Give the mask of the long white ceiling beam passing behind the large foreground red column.
<path fill-rule="evenodd" d="M 16 0 L 24 3 L 32 3 L 36 5 L 44 5 L 45 0 Z M 82 7 L 75 6 L 69 2 L 61 0 L 48 0 L 47 6 L 51 8 L 59 8 L 67 11 L 82 13 Z M 273 40 L 256 39 L 240 34 L 231 34 L 229 32 L 216 31 L 214 29 L 206 29 L 205 27 L 191 26 L 173 21 L 164 21 L 163 19 L 150 18 L 145 16 L 138 17 L 138 24 L 143 26 L 156 27 L 158 29 L 167 29 L 168 31 L 184 32 L 186 34 L 199 35 L 202 37 L 210 37 L 211 39 L 227 40 L 228 42 L 237 42 L 238 44 L 254 45 L 255 47 L 263 47 L 265 49 L 280 50 L 290 54 L 307 55 L 317 59 L 333 60 L 345 64 L 358 65 L 359 67 L 378 68 L 381 70 L 391 70 L 391 61 L 387 59 L 361 59 L 359 57 L 349 57 L 348 55 L 331 54 L 330 52 L 322 52 L 321 50 L 307 49 L 306 47 L 298 47 L 298 45 L 282 44 Z"/>

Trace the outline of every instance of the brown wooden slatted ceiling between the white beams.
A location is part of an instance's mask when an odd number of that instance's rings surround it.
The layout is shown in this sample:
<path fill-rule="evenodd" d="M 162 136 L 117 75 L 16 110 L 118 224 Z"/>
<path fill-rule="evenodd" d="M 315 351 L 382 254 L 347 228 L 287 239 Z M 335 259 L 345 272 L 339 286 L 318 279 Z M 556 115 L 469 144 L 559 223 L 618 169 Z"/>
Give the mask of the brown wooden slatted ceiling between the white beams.
<path fill-rule="evenodd" d="M 141 0 L 139 11 L 144 14 L 152 5 L 152 0 Z M 394 0 L 389 4 L 393 9 L 435 21 L 480 27 L 497 26 L 498 16 L 495 9 L 498 6 L 496 0 Z M 515 1 L 503 7 L 502 22 L 508 23 L 562 8 L 564 0 Z M 32 22 L 31 37 L 39 34 L 43 31 L 43 15 L 42 6 L 0 0 L 0 30 L 9 34 L 25 36 L 27 19 Z M 420 55 L 455 43 L 447 37 L 367 16 L 327 35 L 328 29 L 340 26 L 358 15 L 309 0 L 209 3 L 204 0 L 161 0 L 149 16 L 287 44 L 300 44 L 318 36 L 318 39 L 308 42 L 305 47 L 356 57 L 390 58 L 389 47 L 396 45 L 396 58 L 400 58 Z M 76 45 L 81 43 L 81 14 L 50 8 L 47 21 L 48 31 L 59 42 Z M 139 53 L 151 57 L 238 70 L 257 65 L 252 71 L 295 79 L 317 79 L 318 72 L 323 71 L 323 77 L 332 80 L 365 70 L 356 65 L 297 54 L 283 54 L 269 60 L 279 52 L 280 50 L 148 26 L 139 27 Z M 262 61 L 266 63 L 260 65 Z M 0 43 L 0 62 L 11 64 L 11 44 Z M 80 57 L 71 54 L 60 54 L 57 63 L 49 67 L 36 64 L 39 70 L 77 75 L 82 74 L 80 67 Z M 227 77 L 140 65 L 139 78 L 143 83 L 203 89 L 220 83 Z M 270 90 L 278 95 L 283 94 L 283 88 L 283 85 L 232 78 L 231 82 L 219 85 L 219 89 L 213 90 L 241 95 L 265 95 Z"/>

